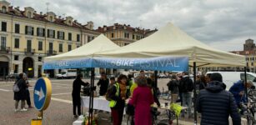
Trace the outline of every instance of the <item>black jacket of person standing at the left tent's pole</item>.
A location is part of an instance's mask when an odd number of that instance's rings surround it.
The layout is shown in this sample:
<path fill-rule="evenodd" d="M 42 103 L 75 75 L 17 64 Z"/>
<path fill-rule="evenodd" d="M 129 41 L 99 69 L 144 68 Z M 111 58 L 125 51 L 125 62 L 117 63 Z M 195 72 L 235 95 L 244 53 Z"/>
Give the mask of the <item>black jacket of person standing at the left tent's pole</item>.
<path fill-rule="evenodd" d="M 88 82 L 83 82 L 80 78 L 76 78 L 73 81 L 73 91 L 72 94 L 73 95 L 77 95 L 78 97 L 80 97 L 80 92 L 81 92 L 81 86 L 87 86 Z"/>

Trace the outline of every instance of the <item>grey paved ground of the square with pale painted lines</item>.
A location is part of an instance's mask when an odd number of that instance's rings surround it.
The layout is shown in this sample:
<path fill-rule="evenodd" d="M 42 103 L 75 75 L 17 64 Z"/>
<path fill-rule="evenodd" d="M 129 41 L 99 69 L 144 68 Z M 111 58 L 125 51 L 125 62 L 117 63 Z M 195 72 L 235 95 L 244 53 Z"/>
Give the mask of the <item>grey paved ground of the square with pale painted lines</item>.
<path fill-rule="evenodd" d="M 89 79 L 83 79 L 89 82 Z M 31 79 L 29 82 L 34 85 L 36 79 Z M 73 106 L 72 106 L 72 79 L 58 80 L 51 79 L 53 84 L 52 100 L 48 109 L 43 112 L 44 125 L 72 125 L 73 121 Z M 97 82 L 97 80 L 95 81 Z M 166 83 L 168 78 L 159 79 L 158 87 L 167 90 Z M 14 112 L 13 101 L 13 82 L 0 82 L 0 125 L 29 125 L 33 118 L 37 117 L 38 111 L 34 108 L 28 109 L 28 112 Z M 33 87 L 30 87 L 30 96 L 33 103 Z M 166 102 L 166 101 L 165 101 Z M 20 107 L 20 106 L 19 106 Z M 27 106 L 28 107 L 28 106 Z M 86 112 L 87 109 L 83 109 Z M 108 112 L 98 112 L 99 124 L 108 125 L 110 122 L 110 114 Z M 123 120 L 124 121 L 124 120 Z M 187 121 L 187 122 L 184 122 Z M 193 119 L 180 118 L 179 124 L 193 124 Z M 175 121 L 174 121 L 175 122 Z"/>

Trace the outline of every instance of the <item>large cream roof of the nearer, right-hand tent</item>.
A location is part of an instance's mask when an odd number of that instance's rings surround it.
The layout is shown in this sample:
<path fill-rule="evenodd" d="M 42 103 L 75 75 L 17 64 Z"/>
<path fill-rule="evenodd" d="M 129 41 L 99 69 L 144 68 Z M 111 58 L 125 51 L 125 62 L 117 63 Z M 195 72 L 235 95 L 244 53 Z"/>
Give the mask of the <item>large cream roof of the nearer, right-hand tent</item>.
<path fill-rule="evenodd" d="M 168 23 L 158 32 L 128 46 L 106 52 L 97 52 L 96 57 L 163 57 L 186 56 L 189 65 L 231 67 L 245 66 L 245 57 L 209 47 L 190 37 L 186 32 Z"/>

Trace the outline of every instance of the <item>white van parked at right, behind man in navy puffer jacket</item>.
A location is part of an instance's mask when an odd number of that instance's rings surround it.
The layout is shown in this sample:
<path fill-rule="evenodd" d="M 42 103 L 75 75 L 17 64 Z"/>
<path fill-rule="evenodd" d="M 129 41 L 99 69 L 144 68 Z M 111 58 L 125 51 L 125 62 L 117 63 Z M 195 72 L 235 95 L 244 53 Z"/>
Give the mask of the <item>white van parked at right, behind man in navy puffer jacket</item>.
<path fill-rule="evenodd" d="M 218 72 L 218 71 L 216 71 Z M 213 73 L 213 72 L 206 72 Z M 244 72 L 218 72 L 223 77 L 223 82 L 227 85 L 227 90 L 233 86 L 234 82 L 238 82 L 238 80 L 244 80 Z M 247 80 L 253 81 L 253 85 L 256 85 L 256 74 L 253 72 L 246 72 Z"/>

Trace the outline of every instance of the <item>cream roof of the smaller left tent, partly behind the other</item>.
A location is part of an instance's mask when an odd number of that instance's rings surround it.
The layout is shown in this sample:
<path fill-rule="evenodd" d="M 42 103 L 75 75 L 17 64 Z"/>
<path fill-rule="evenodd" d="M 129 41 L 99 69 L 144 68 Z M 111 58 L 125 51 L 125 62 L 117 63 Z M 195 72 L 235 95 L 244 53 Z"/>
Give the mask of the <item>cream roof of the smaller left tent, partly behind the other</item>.
<path fill-rule="evenodd" d="M 45 57 L 44 62 L 93 57 L 93 53 L 95 52 L 108 51 L 116 48 L 119 48 L 119 46 L 110 41 L 108 37 L 105 37 L 103 34 L 101 34 L 93 39 L 93 41 L 73 49 L 70 52 L 65 52 L 51 57 Z"/>

